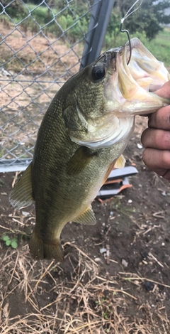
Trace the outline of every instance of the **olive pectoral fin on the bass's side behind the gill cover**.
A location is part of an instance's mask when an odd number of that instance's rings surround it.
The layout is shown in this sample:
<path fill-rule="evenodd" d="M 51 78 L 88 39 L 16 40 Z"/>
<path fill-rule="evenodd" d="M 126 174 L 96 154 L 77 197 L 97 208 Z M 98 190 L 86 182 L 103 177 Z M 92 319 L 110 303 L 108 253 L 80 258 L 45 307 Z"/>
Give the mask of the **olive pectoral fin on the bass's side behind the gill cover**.
<path fill-rule="evenodd" d="M 86 146 L 80 146 L 69 160 L 67 165 L 67 174 L 79 174 L 96 155 L 96 151 L 91 153 L 91 151 Z"/>

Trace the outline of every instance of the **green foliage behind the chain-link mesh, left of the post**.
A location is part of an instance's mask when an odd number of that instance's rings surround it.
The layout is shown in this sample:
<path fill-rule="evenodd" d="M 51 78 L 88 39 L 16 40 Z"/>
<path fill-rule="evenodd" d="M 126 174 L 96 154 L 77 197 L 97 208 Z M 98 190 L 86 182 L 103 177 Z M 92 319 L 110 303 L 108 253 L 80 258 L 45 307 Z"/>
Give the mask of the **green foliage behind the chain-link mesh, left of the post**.
<path fill-rule="evenodd" d="M 89 15 L 81 17 L 88 10 L 87 4 L 83 6 L 83 1 L 80 1 L 79 6 L 75 7 L 72 12 L 71 3 L 69 8 L 66 6 L 64 11 L 63 3 L 57 2 L 55 8 L 49 9 L 47 6 L 35 6 L 35 4 L 26 4 L 24 6 L 20 0 L 13 1 L 13 3 L 6 5 L 8 0 L 4 0 L 3 5 L 6 6 L 6 14 L 0 16 L 1 21 L 14 21 L 14 23 L 21 22 L 23 31 L 31 31 L 32 33 L 52 33 L 57 38 L 65 36 L 70 43 L 81 40 L 84 33 L 88 31 Z M 30 15 L 29 15 L 30 13 Z M 10 19 L 11 18 L 11 19 Z"/>

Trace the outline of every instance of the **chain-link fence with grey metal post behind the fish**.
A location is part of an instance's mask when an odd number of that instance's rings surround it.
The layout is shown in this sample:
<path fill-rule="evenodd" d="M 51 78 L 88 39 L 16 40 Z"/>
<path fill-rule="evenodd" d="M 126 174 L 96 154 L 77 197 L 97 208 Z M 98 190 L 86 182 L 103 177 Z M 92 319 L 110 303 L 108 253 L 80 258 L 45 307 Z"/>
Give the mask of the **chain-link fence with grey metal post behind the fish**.
<path fill-rule="evenodd" d="M 1 172 L 24 170 L 32 160 L 52 97 L 100 54 L 113 3 L 0 2 Z"/>

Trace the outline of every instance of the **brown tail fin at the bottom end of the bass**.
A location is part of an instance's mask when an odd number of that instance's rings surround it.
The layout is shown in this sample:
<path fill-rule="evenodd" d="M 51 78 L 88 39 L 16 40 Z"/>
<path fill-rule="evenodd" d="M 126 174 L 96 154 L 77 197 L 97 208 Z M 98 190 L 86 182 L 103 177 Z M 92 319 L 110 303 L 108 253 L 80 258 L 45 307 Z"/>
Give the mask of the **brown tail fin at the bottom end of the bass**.
<path fill-rule="evenodd" d="M 38 237 L 37 232 L 33 230 L 33 235 L 29 242 L 30 254 L 35 260 L 42 259 L 57 259 L 58 262 L 63 262 L 62 247 L 60 240 L 52 240 L 51 243 L 45 244 Z"/>

